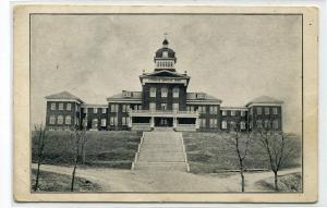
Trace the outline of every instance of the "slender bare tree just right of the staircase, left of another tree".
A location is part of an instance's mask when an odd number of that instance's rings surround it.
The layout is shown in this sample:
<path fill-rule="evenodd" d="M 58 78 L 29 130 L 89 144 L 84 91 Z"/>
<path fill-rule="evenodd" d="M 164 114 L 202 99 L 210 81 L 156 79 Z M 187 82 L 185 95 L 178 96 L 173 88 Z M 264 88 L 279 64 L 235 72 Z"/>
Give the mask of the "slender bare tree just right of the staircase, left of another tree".
<path fill-rule="evenodd" d="M 235 151 L 239 159 L 242 192 L 244 192 L 245 189 L 244 160 L 249 152 L 249 144 L 251 142 L 251 133 L 241 131 L 240 122 L 231 125 L 229 135 L 226 137 L 226 140 L 233 147 L 233 150 Z"/>

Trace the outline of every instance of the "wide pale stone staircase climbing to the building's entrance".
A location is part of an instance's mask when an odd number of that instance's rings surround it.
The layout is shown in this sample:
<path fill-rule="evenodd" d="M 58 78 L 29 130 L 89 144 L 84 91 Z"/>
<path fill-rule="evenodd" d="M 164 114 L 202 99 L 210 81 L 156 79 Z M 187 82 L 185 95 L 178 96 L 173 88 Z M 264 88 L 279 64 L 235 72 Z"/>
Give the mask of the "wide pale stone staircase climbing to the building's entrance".
<path fill-rule="evenodd" d="M 182 133 L 169 129 L 144 132 L 132 170 L 190 171 Z"/>

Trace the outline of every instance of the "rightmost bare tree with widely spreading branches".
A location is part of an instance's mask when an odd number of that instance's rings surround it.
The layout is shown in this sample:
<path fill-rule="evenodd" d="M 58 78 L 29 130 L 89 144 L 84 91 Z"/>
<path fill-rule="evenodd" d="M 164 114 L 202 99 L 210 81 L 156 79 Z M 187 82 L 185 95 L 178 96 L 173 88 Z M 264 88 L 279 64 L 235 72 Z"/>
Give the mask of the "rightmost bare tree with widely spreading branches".
<path fill-rule="evenodd" d="M 275 191 L 278 188 L 278 171 L 283 168 L 287 162 L 295 154 L 296 148 L 291 145 L 290 138 L 281 131 L 274 131 L 267 126 L 261 126 L 258 132 L 258 143 L 263 147 L 268 157 L 269 168 L 274 172 Z"/>

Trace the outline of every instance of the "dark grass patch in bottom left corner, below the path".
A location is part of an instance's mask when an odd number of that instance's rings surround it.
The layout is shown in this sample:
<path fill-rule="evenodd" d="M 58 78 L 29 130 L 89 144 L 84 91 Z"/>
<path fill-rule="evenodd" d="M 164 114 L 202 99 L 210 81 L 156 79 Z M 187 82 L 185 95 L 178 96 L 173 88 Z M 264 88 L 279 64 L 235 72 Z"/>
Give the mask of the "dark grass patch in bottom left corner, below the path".
<path fill-rule="evenodd" d="M 36 170 L 32 171 L 31 185 L 35 184 Z M 37 192 L 71 192 L 71 176 L 40 171 Z M 34 192 L 34 189 L 32 189 Z M 74 192 L 99 192 L 98 184 L 82 178 L 75 178 Z"/>

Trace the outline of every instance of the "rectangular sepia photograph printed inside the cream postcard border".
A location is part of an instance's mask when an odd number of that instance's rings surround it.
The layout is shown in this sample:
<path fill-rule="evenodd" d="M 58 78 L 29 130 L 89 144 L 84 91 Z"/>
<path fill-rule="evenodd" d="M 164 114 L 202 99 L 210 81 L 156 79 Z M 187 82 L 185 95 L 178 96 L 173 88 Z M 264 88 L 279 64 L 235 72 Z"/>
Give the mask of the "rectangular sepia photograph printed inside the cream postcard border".
<path fill-rule="evenodd" d="M 29 13 L 29 193 L 303 194 L 303 24 Z"/>

